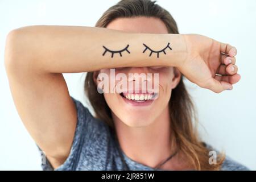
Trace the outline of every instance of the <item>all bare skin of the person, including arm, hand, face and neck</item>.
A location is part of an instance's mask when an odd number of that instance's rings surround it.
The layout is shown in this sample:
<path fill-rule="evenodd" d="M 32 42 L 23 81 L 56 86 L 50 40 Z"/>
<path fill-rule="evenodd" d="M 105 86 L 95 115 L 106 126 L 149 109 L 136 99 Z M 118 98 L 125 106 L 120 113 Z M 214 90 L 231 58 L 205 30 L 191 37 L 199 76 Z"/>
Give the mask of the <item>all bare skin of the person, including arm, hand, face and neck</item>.
<path fill-rule="evenodd" d="M 121 96 L 104 94 L 112 109 L 122 150 L 131 159 L 150 167 L 175 150 L 175 143 L 169 140 L 167 104 L 171 90 L 180 80 L 180 72 L 188 80 L 216 93 L 232 88 L 232 84 L 240 80 L 234 57 L 237 51 L 229 44 L 201 35 L 167 34 L 163 22 L 154 18 L 116 19 L 108 28 L 112 31 L 76 26 L 29 26 L 13 30 L 7 36 L 5 67 L 16 109 L 53 168 L 67 159 L 77 122 L 76 107 L 62 73 L 98 70 L 108 73 L 108 68 L 118 68 L 126 74 L 159 73 L 159 98 L 148 108 L 135 110 L 125 105 Z M 142 41 L 160 49 L 167 39 L 172 40 L 175 49 L 162 54 L 161 61 L 141 52 Z M 102 45 L 122 48 L 127 42 L 133 45 L 129 47 L 133 53 L 122 59 L 102 56 Z M 229 59 L 232 63 L 227 63 Z M 226 76 L 215 76 L 224 72 Z M 96 76 L 94 81 L 97 84 Z M 120 102 L 118 107 L 117 102 Z M 177 156 L 181 159 L 182 154 Z M 185 164 L 174 158 L 163 168 L 184 169 Z"/>

